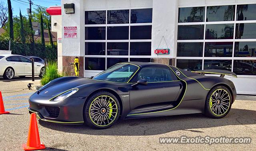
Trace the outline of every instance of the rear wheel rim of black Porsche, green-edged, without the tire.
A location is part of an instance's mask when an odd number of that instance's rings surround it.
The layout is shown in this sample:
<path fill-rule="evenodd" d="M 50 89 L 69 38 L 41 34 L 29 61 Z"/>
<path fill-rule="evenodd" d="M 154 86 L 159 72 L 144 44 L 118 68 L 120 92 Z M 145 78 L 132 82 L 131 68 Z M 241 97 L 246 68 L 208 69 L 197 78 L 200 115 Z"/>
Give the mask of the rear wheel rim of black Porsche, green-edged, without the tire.
<path fill-rule="evenodd" d="M 216 89 L 210 96 L 209 107 L 216 116 L 224 115 L 230 107 L 231 99 L 225 89 Z M 223 113 L 222 113 L 223 111 Z"/>

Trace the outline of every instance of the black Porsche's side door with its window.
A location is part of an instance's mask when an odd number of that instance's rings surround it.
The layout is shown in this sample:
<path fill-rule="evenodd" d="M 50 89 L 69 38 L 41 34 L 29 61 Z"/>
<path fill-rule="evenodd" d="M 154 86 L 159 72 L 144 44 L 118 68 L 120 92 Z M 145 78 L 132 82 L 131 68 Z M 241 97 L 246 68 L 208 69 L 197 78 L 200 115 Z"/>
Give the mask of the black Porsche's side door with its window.
<path fill-rule="evenodd" d="M 166 68 L 142 68 L 134 80 L 138 79 L 146 79 L 148 84 L 131 86 L 130 109 L 133 111 L 170 105 L 182 89 L 181 81 Z"/>

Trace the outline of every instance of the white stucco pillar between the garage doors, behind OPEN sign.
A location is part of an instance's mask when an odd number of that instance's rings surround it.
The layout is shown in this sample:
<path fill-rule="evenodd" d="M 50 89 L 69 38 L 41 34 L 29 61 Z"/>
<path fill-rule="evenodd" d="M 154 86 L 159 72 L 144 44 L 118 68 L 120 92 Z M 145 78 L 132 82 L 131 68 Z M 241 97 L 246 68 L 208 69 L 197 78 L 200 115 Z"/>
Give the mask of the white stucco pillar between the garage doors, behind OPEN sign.
<path fill-rule="evenodd" d="M 176 28 L 178 0 L 153 0 L 152 16 L 152 58 L 175 58 L 176 57 Z M 162 39 L 162 37 L 164 38 Z M 161 41 L 162 39 L 162 41 Z M 166 40 L 166 42 L 164 41 Z M 157 55 L 154 50 L 169 48 L 170 54 Z"/>

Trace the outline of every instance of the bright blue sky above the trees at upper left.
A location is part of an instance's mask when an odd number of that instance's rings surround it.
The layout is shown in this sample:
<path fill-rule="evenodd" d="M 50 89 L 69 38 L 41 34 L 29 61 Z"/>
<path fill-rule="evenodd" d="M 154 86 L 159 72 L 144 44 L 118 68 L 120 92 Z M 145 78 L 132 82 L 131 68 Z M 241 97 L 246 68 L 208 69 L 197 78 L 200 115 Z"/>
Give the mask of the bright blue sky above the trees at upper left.
<path fill-rule="evenodd" d="M 0 0 L 0 1 L 4 2 L 7 5 L 7 0 Z M 28 0 L 11 0 L 12 8 L 13 8 L 12 10 L 13 16 L 19 16 L 20 10 L 22 15 L 27 15 L 26 9 L 29 8 L 29 4 L 26 2 L 28 2 Z M 61 5 L 61 0 L 32 0 L 32 2 L 36 5 L 44 6 L 47 8 L 49 6 Z M 32 11 L 36 7 L 37 6 L 32 5 Z"/>

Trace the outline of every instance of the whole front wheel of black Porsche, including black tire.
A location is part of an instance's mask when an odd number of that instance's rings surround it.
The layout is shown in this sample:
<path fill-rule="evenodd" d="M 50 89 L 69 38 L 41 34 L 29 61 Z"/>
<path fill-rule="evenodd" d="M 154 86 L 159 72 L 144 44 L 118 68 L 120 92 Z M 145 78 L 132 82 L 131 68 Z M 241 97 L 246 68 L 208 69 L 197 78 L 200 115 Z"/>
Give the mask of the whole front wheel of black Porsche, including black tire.
<path fill-rule="evenodd" d="M 98 91 L 84 105 L 84 122 L 94 129 L 111 127 L 120 115 L 118 99 L 108 91 Z"/>

